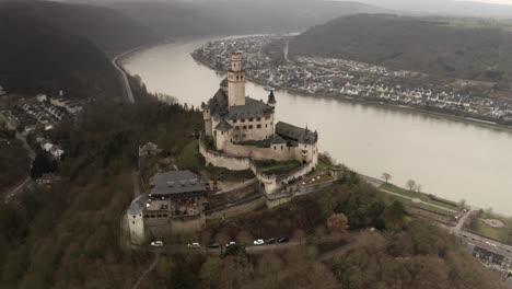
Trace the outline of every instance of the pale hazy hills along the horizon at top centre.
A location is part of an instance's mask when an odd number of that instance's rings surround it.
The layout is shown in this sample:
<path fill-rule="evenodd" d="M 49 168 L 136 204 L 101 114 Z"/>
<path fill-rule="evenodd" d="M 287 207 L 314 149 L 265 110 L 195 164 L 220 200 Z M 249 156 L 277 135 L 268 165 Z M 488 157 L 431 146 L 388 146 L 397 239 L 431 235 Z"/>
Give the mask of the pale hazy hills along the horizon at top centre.
<path fill-rule="evenodd" d="M 358 2 L 307 0 L 102 1 L 96 4 L 118 10 L 164 38 L 298 32 L 341 15 L 385 11 Z"/>

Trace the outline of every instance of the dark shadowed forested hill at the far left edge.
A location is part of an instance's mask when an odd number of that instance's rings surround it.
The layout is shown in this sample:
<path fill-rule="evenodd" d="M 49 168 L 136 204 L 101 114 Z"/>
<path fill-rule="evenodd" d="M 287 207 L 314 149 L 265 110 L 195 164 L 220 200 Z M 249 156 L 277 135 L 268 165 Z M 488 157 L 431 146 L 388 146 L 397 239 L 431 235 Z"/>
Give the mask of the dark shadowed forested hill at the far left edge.
<path fill-rule="evenodd" d="M 110 61 L 83 37 L 5 5 L 0 5 L 0 83 L 10 92 L 65 90 L 78 97 L 120 94 Z"/>

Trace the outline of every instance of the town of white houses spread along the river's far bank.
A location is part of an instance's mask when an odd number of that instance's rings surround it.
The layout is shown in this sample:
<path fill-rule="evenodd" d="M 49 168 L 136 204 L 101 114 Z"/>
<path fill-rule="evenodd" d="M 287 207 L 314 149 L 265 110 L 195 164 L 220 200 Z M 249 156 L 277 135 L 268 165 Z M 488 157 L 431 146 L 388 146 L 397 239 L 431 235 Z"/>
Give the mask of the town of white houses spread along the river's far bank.
<path fill-rule="evenodd" d="M 264 53 L 265 47 L 276 39 L 279 37 L 251 36 L 210 42 L 196 50 L 194 57 L 222 70 L 230 66 L 231 50 L 245 50 L 251 51 L 244 59 L 247 77 L 270 86 L 490 120 L 512 120 L 509 102 L 472 91 L 467 81 L 440 83 L 424 73 L 392 71 L 382 66 L 337 58 L 294 57 L 277 65 Z"/>

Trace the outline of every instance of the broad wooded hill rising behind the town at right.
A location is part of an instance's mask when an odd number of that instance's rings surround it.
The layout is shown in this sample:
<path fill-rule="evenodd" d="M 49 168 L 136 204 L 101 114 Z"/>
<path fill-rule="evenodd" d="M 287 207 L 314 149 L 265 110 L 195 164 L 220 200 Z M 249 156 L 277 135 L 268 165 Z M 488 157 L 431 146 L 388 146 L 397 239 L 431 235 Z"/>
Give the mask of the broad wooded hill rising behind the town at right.
<path fill-rule="evenodd" d="M 451 20 L 455 21 L 455 20 Z M 500 81 L 512 76 L 512 34 L 479 20 L 431 21 L 350 15 L 312 27 L 290 42 L 290 54 L 346 58 L 393 69 Z"/>

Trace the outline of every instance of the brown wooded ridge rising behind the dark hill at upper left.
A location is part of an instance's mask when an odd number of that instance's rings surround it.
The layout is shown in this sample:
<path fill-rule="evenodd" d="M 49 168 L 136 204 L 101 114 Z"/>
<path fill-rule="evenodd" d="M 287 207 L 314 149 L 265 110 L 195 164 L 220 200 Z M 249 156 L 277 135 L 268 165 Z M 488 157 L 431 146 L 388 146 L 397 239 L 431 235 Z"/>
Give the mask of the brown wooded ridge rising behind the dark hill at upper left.
<path fill-rule="evenodd" d="M 2 10 L 46 21 L 83 36 L 106 53 L 119 53 L 158 42 L 155 34 L 113 9 L 49 1 L 7 1 Z"/>

